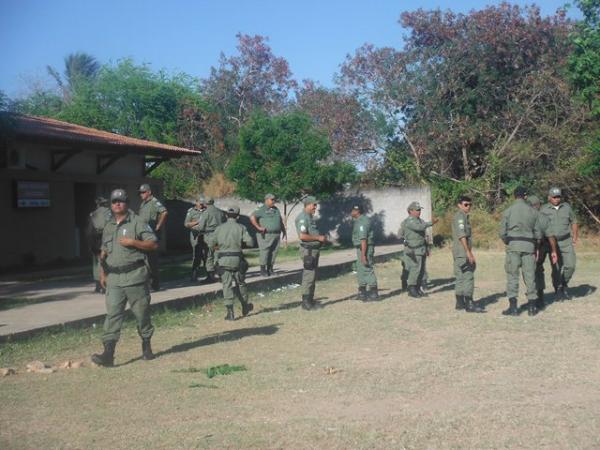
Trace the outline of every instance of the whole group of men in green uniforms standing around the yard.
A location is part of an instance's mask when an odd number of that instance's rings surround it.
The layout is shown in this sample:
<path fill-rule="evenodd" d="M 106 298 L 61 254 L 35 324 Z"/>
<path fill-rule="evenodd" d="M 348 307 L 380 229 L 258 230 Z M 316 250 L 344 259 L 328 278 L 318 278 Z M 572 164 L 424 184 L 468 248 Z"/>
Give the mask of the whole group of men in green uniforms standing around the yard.
<path fill-rule="evenodd" d="M 116 189 L 110 196 L 110 210 L 97 210 L 90 215 L 90 222 L 99 216 L 106 219 L 101 238 L 96 240 L 99 262 L 95 275 L 99 289 L 106 289 L 107 315 L 102 341 L 104 351 L 92 359 L 102 366 L 112 366 L 115 346 L 129 302 L 142 338 L 142 358 L 153 359 L 150 339 L 154 332 L 150 320 L 150 286 L 157 287 L 158 280 L 155 255 L 158 248 L 157 232 L 164 226 L 166 209 L 152 196 L 148 185 L 140 187 L 142 207 L 135 214 L 128 207 L 127 194 Z M 525 188 L 514 191 L 514 203 L 503 213 L 500 238 L 506 244 L 505 271 L 509 308 L 505 315 L 518 315 L 517 297 L 519 274 L 522 273 L 527 287 L 530 315 L 545 307 L 544 260 L 550 256 L 552 281 L 559 300 L 569 299 L 568 283 L 575 270 L 573 246 L 578 239 L 575 215 L 568 203 L 562 202 L 561 190 L 551 188 L 548 203 L 540 205 L 535 196 L 527 195 Z M 263 276 L 273 274 L 274 262 L 281 236 L 286 229 L 272 194 L 250 217 L 256 230 L 260 252 L 260 272 Z M 304 310 L 322 307 L 315 299 L 315 283 L 320 251 L 327 244 L 327 236 L 320 234 L 315 213 L 318 201 L 314 196 L 303 199 L 303 210 L 298 214 L 295 226 L 300 240 L 302 259 L 302 303 Z M 146 206 L 145 206 L 146 205 Z M 472 200 L 461 196 L 452 222 L 452 255 L 456 278 L 456 309 L 466 312 L 483 312 L 484 308 L 473 300 L 476 260 L 473 254 L 470 211 Z M 104 206 L 104 208 L 106 208 Z M 400 237 L 404 243 L 402 259 L 402 286 L 414 299 L 427 296 L 423 290 L 426 279 L 426 259 L 429 255 L 428 228 L 438 220 L 421 219 L 422 207 L 418 202 L 408 206 L 408 217 L 402 222 Z M 248 263 L 243 249 L 252 247 L 254 240 L 248 229 L 238 222 L 237 206 L 221 211 L 214 200 L 199 197 L 186 214 L 184 226 L 190 230 L 193 263 L 192 280 L 196 281 L 201 264 L 206 264 L 207 280 L 220 278 L 223 285 L 225 320 L 235 320 L 234 300 L 241 303 L 242 316 L 253 310 L 249 301 L 245 277 Z M 360 205 L 351 210 L 353 219 L 352 244 L 356 248 L 357 298 L 362 301 L 379 300 L 377 277 L 374 271 L 374 231 L 371 219 Z M 98 219 L 100 222 L 100 219 Z M 155 264 L 155 263 L 154 263 Z M 155 278 L 156 277 L 156 278 Z M 235 287 L 234 287 L 235 285 Z"/>

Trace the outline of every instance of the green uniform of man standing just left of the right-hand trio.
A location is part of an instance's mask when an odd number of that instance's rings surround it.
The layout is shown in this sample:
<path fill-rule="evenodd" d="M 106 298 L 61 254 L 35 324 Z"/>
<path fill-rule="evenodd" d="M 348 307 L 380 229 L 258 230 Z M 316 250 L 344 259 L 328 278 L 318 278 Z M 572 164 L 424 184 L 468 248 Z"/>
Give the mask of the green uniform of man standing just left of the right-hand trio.
<path fill-rule="evenodd" d="M 469 215 L 458 210 L 452 219 L 452 257 L 454 258 L 454 290 L 456 295 L 473 297 L 475 289 L 475 267 L 469 264 L 467 252 L 461 239 L 467 240 L 467 246 L 472 248 L 471 222 Z"/>

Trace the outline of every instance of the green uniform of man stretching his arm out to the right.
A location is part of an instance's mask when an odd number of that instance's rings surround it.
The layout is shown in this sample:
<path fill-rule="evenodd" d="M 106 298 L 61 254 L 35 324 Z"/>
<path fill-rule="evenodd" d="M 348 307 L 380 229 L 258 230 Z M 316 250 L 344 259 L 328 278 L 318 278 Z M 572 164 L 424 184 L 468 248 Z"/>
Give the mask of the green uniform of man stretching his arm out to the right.
<path fill-rule="evenodd" d="M 421 286 L 427 259 L 425 232 L 433 225 L 423 219 L 408 216 L 401 224 L 400 235 L 404 237 L 404 267 L 408 286 Z"/>

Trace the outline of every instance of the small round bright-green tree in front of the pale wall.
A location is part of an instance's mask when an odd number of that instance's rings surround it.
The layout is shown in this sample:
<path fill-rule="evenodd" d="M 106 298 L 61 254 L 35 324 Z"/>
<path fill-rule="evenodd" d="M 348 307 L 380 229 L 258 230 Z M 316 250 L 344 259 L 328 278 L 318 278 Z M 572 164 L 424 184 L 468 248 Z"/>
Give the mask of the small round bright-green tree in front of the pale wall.
<path fill-rule="evenodd" d="M 327 137 L 303 113 L 269 117 L 255 113 L 239 134 L 239 152 L 229 178 L 242 198 L 260 201 L 272 192 L 290 212 L 306 195 L 327 198 L 356 179 L 347 162 L 327 162 L 332 149 Z"/>

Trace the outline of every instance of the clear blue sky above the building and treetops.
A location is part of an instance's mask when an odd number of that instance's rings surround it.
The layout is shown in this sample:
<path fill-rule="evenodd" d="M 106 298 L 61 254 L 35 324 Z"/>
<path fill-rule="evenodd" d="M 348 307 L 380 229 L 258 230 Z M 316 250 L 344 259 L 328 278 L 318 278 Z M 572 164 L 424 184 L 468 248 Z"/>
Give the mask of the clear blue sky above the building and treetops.
<path fill-rule="evenodd" d="M 348 53 L 365 42 L 399 46 L 402 11 L 468 12 L 496 1 L 473 0 L 0 0 L 0 90 L 11 97 L 49 83 L 65 55 L 100 62 L 132 57 L 156 70 L 205 77 L 221 51 L 235 52 L 238 32 L 261 34 L 298 80 L 331 86 Z M 518 2 L 525 4 L 528 2 Z M 536 2 L 551 14 L 564 0 Z M 574 14 L 574 12 L 573 12 Z"/>

